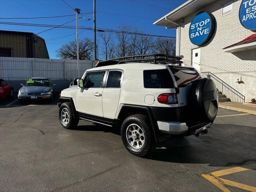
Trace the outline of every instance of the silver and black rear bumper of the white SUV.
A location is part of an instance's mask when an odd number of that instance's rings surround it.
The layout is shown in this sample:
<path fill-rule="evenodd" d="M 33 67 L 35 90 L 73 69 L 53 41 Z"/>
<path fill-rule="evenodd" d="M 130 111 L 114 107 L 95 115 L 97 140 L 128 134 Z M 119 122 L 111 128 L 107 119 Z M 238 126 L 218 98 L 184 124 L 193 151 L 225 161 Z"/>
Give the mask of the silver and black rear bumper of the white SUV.
<path fill-rule="evenodd" d="M 196 126 L 188 127 L 185 122 L 166 122 L 157 121 L 160 132 L 172 135 L 192 135 L 204 131 L 210 127 L 212 123 L 201 123 Z"/>

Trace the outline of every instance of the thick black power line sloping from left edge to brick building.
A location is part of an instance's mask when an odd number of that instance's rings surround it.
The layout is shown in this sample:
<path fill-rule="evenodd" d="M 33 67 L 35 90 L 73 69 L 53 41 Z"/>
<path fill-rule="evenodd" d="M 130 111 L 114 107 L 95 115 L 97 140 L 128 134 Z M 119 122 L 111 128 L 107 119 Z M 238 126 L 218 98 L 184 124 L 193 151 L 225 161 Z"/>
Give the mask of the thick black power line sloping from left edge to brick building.
<path fill-rule="evenodd" d="M 0 22 L 0 24 L 9 24 L 9 25 L 22 25 L 22 26 L 40 26 L 40 27 L 55 27 L 55 28 L 70 28 L 75 29 L 76 26 L 58 26 L 58 25 L 50 25 L 50 24 L 31 24 L 31 23 L 14 23 L 14 22 Z M 93 30 L 89 27 L 82 27 L 80 26 L 79 29 L 87 29 L 87 30 Z M 154 36 L 154 37 L 165 37 L 165 38 L 176 38 L 172 36 L 162 36 L 162 35 L 154 35 L 154 34 L 146 34 L 146 33 L 136 33 L 136 32 L 129 32 L 129 31 L 120 31 L 120 30 L 114 30 L 114 29 L 107 29 L 107 28 L 97 28 L 98 32 L 115 32 L 115 33 L 124 33 L 124 34 L 134 34 L 134 35 L 144 35 L 144 36 Z"/>

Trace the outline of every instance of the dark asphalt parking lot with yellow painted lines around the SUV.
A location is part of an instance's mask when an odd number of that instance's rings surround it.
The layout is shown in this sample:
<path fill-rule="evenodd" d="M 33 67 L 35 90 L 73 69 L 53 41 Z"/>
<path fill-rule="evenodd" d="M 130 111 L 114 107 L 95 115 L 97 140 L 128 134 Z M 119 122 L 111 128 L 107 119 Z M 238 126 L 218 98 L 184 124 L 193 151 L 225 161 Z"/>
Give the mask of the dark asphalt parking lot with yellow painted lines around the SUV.
<path fill-rule="evenodd" d="M 1 103 L 2 192 L 256 191 L 255 115 L 220 108 L 208 134 L 139 158 L 116 129 L 83 120 L 62 128 L 56 100 Z"/>

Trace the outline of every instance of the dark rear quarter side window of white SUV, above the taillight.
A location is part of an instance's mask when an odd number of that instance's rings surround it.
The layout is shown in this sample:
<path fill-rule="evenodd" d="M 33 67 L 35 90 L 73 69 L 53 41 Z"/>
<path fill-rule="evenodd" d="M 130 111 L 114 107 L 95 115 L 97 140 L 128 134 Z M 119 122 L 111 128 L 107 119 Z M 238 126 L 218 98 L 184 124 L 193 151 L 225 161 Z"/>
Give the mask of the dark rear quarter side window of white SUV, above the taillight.
<path fill-rule="evenodd" d="M 167 69 L 144 70 L 144 88 L 174 88 L 172 76 Z"/>

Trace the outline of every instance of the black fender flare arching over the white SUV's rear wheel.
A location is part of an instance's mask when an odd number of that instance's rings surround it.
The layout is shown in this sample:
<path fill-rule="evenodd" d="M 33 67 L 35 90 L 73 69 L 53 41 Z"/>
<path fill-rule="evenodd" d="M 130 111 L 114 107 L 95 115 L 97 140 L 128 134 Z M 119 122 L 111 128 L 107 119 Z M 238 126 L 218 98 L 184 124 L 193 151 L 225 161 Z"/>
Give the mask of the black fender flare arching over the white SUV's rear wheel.
<path fill-rule="evenodd" d="M 158 130 L 158 126 L 156 124 L 156 122 L 154 122 L 154 117 L 153 117 L 153 114 L 152 114 L 152 111 L 150 109 L 150 107 L 147 107 L 147 106 L 140 106 L 140 105 L 130 105 L 130 104 L 124 104 L 122 106 L 122 108 L 120 109 L 120 112 L 118 114 L 118 119 L 121 118 L 123 112 L 127 109 L 139 109 L 139 110 L 144 110 L 146 111 L 146 113 L 148 114 L 148 117 L 149 117 L 149 120 L 150 120 L 150 123 L 151 123 L 151 126 L 152 126 L 152 130 L 153 130 L 153 134 L 154 134 L 154 138 L 156 140 L 156 143 L 159 142 L 158 140 L 158 135 L 157 135 L 157 130 Z"/>

